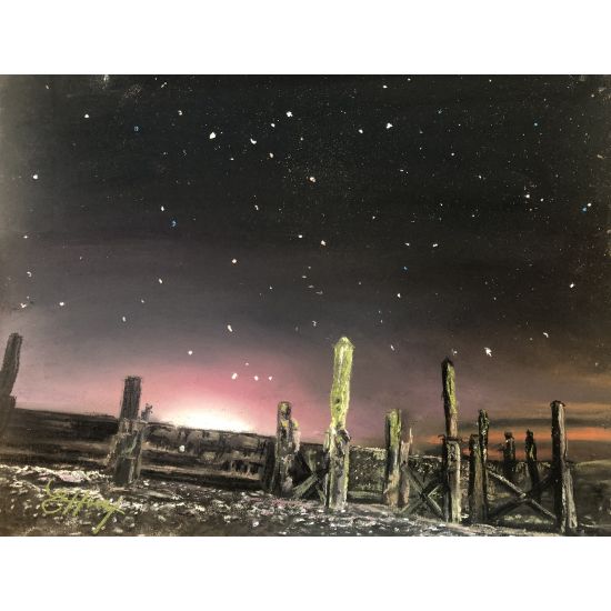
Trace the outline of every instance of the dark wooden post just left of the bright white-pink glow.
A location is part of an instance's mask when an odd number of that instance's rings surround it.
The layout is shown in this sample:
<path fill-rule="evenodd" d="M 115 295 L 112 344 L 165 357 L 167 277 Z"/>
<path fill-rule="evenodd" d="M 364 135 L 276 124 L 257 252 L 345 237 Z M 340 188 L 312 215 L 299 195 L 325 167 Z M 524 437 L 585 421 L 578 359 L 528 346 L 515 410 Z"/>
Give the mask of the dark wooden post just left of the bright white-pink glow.
<path fill-rule="evenodd" d="M 139 418 L 142 379 L 126 378 L 119 429 L 108 459 L 112 479 L 118 485 L 129 485 L 140 477 L 140 454 L 147 422 Z"/>

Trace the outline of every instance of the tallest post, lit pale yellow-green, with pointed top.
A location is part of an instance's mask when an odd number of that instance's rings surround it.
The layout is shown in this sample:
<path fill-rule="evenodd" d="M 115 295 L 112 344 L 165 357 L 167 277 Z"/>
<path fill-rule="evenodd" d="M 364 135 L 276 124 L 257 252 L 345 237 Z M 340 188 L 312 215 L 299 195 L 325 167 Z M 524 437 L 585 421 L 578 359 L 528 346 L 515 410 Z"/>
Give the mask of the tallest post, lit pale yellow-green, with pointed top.
<path fill-rule="evenodd" d="M 342 509 L 348 495 L 348 467 L 350 435 L 345 430 L 345 417 L 350 404 L 350 374 L 354 347 L 348 338 L 341 338 L 334 347 L 333 383 L 331 385 L 331 424 L 324 439 L 327 475 L 324 478 L 324 505 Z"/>

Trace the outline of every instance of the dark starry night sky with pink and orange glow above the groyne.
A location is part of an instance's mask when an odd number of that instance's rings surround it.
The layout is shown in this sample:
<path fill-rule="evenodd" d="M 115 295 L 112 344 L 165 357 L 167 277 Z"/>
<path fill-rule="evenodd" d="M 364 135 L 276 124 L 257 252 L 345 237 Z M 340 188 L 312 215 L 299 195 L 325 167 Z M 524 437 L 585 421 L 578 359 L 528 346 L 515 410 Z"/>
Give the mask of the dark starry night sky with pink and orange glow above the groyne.
<path fill-rule="evenodd" d="M 2 77 L 0 332 L 18 405 L 272 433 L 290 400 L 417 448 L 491 418 L 611 453 L 607 77 Z M 2 340 L 3 341 L 3 340 Z"/>

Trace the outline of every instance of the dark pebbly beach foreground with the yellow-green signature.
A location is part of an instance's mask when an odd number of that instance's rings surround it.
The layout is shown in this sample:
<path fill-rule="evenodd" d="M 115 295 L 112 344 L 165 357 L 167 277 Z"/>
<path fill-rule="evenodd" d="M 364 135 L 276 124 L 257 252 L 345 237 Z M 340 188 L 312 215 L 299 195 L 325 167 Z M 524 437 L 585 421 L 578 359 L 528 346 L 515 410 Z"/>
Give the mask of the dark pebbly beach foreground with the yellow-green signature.
<path fill-rule="evenodd" d="M 259 491 L 152 479 L 127 490 L 111 485 L 97 470 L 0 464 L 0 535 L 90 535 L 109 511 L 98 535 L 532 534 L 408 519 L 381 505 L 351 503 L 331 514 L 318 502 L 286 501 Z"/>

